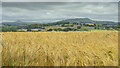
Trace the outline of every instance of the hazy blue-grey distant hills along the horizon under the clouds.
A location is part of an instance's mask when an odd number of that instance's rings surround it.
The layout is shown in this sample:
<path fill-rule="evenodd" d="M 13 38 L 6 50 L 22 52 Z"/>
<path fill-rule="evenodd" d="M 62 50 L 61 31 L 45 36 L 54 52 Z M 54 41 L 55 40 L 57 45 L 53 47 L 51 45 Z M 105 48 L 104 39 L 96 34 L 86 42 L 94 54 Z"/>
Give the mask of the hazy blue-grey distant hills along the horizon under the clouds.
<path fill-rule="evenodd" d="M 117 25 L 116 22 L 112 22 L 112 21 L 95 21 L 95 20 L 91 20 L 89 18 L 75 18 L 75 19 L 66 19 L 66 20 L 62 20 L 62 21 L 58 21 L 58 22 L 70 22 L 70 23 L 93 23 L 93 24 L 109 24 L 109 25 Z M 54 22 L 57 23 L 57 22 Z M 26 24 L 41 24 L 39 22 L 22 22 L 20 20 L 16 21 L 16 22 L 3 22 L 3 25 L 26 25 Z"/>

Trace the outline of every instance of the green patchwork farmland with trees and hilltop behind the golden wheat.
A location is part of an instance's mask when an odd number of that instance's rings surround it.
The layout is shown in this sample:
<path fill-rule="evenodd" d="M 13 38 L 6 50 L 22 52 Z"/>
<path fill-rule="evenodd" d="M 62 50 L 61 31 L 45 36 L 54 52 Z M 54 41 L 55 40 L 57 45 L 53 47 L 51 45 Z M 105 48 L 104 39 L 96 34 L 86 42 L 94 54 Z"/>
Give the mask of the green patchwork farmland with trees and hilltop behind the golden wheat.
<path fill-rule="evenodd" d="M 86 21 L 89 20 L 89 21 Z M 75 18 L 73 20 L 83 20 L 83 21 L 58 21 L 53 23 L 31 23 L 31 24 L 13 24 L 3 23 L 2 32 L 47 32 L 47 31 L 96 31 L 96 30 L 112 30 L 119 31 L 120 26 L 117 22 L 107 22 L 107 21 L 91 21 L 89 18 Z M 106 22 L 106 23 L 105 23 Z M 19 22 L 20 23 L 20 22 Z M 23 22 L 21 22 L 23 23 Z"/>

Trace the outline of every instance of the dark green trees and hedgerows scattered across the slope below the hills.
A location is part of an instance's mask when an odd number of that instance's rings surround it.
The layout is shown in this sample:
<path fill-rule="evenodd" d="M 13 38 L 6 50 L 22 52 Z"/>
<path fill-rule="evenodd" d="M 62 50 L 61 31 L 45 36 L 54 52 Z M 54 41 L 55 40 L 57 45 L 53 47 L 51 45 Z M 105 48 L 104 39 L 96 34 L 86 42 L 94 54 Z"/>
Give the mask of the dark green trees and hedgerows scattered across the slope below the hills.
<path fill-rule="evenodd" d="M 60 28 L 50 28 L 46 29 L 48 26 L 59 25 Z M 74 26 L 77 26 L 74 28 Z M 65 28 L 62 28 L 65 27 Z M 108 24 L 90 24 L 90 23 L 77 23 L 77 22 L 57 22 L 57 23 L 48 23 L 48 24 L 29 24 L 29 25 L 3 25 L 2 32 L 17 32 L 19 29 L 27 29 L 27 31 L 32 31 L 31 29 L 38 29 L 38 31 L 88 31 L 88 29 L 81 29 L 82 27 L 93 27 L 97 30 L 119 30 L 120 27 L 117 25 L 108 25 Z"/>

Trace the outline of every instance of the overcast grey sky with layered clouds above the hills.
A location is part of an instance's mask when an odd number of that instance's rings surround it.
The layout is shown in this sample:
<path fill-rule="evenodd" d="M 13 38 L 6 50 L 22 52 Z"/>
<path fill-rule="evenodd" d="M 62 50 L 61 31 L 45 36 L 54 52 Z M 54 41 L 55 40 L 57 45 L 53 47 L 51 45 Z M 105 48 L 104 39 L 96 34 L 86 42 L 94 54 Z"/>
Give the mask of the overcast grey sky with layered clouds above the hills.
<path fill-rule="evenodd" d="M 7 1 L 7 0 L 6 0 Z M 117 21 L 117 2 L 3 2 L 3 21 L 54 22 L 70 18 Z"/>

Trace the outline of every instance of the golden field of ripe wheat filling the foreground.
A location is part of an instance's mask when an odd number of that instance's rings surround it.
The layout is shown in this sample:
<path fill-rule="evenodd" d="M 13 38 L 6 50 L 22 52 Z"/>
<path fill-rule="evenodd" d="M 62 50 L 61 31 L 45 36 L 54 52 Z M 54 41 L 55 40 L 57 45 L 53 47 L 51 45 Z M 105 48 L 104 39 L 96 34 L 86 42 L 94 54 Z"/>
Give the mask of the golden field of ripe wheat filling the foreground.
<path fill-rule="evenodd" d="M 117 31 L 3 32 L 3 66 L 117 66 Z"/>

